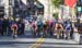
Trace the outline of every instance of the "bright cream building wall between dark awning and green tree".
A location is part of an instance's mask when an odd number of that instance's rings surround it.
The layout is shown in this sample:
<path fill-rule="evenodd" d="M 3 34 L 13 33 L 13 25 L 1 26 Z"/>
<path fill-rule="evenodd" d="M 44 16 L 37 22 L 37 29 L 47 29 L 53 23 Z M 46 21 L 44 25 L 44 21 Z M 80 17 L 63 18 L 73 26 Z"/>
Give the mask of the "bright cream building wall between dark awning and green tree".
<path fill-rule="evenodd" d="M 42 4 L 44 4 L 44 19 L 51 20 L 54 13 L 54 7 L 51 4 L 51 0 L 38 0 Z"/>

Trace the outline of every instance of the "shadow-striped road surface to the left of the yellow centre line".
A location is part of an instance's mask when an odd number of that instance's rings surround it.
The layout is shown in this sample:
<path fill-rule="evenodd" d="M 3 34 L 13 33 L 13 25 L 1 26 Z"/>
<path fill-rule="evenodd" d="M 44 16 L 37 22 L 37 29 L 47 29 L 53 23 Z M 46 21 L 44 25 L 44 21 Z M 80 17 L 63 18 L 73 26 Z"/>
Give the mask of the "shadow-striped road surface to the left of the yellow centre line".
<path fill-rule="evenodd" d="M 38 38 L 16 38 L 0 40 L 0 48 L 28 48 L 37 41 Z"/>

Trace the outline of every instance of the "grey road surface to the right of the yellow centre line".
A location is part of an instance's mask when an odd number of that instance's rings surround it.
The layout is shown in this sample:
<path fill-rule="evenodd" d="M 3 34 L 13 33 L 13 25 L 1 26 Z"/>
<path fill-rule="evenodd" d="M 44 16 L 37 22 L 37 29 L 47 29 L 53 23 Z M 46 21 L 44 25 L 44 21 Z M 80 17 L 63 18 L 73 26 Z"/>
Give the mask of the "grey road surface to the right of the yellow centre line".
<path fill-rule="evenodd" d="M 40 48 L 82 48 L 82 45 L 78 45 L 74 40 L 46 38 L 45 41 L 39 47 Z"/>

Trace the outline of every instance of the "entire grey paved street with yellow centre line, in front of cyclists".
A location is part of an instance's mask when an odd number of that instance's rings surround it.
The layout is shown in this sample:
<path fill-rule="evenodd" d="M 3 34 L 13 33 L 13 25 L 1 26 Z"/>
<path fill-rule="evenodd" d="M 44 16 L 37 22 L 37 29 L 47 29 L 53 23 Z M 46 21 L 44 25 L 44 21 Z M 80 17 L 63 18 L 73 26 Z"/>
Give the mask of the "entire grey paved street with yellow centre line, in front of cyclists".
<path fill-rule="evenodd" d="M 0 36 L 0 48 L 82 48 L 74 40 L 55 38 L 33 38 L 31 32 L 26 36 L 13 39 L 11 36 Z"/>

